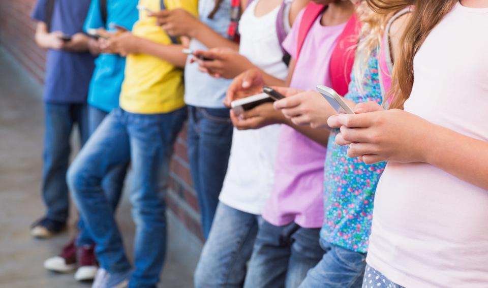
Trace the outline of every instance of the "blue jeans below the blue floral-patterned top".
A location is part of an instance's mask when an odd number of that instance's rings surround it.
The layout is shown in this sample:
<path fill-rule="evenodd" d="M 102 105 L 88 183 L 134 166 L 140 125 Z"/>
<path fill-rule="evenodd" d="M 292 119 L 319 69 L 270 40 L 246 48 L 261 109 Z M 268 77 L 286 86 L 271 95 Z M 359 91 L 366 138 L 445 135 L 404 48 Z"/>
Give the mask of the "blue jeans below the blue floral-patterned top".
<path fill-rule="evenodd" d="M 359 288 L 362 285 L 366 254 L 331 245 L 322 239 L 322 260 L 307 274 L 300 288 Z"/>

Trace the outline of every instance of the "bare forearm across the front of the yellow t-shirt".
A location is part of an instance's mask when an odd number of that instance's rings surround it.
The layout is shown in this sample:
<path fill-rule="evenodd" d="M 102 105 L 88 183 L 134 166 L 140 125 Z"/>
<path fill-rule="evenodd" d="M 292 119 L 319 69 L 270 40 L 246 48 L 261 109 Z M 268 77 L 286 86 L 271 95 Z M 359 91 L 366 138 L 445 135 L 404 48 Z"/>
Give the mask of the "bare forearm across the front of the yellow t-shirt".
<path fill-rule="evenodd" d="M 139 53 L 158 57 L 176 67 L 185 67 L 187 55 L 181 52 L 181 49 L 184 48 L 182 45 L 164 45 L 141 38 L 139 47 Z"/>

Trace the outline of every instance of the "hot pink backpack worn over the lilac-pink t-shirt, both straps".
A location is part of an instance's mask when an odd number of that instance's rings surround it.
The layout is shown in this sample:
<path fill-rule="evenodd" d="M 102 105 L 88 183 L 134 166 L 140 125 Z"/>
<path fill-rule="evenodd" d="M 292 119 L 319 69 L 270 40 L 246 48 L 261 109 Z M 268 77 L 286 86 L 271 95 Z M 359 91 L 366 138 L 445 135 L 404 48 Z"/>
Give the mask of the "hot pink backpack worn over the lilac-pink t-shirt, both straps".
<path fill-rule="evenodd" d="M 303 11 L 303 16 L 298 29 L 297 56 L 298 62 L 301 48 L 307 35 L 317 18 L 322 15 L 327 7 L 311 2 Z M 358 41 L 360 22 L 356 14 L 353 14 L 346 23 L 344 30 L 337 39 L 337 43 L 332 50 L 330 57 L 329 74 L 332 82 L 332 89 L 340 95 L 345 95 L 349 90 L 351 82 L 352 66 L 354 64 L 354 54 Z"/>

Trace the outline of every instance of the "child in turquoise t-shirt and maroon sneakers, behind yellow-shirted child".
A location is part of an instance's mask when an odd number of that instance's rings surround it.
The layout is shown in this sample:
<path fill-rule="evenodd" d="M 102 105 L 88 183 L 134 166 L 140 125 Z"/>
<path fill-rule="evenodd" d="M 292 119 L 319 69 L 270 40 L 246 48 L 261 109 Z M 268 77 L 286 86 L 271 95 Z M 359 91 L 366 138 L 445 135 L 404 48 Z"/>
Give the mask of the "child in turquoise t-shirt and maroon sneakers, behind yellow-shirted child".
<path fill-rule="evenodd" d="M 85 31 L 98 29 L 99 33 L 106 33 L 109 23 L 117 23 L 131 29 L 138 18 L 136 9 L 137 0 L 92 1 L 85 21 Z M 101 28 L 103 27 L 103 28 Z M 99 29 L 101 28 L 101 29 Z M 124 80 L 126 59 L 117 54 L 101 51 L 101 41 L 90 39 L 89 48 L 92 54 L 100 54 L 95 61 L 95 71 L 88 90 L 88 130 L 90 135 L 95 132 L 105 116 L 118 107 L 120 86 Z M 127 163 L 114 168 L 103 180 L 103 189 L 115 211 L 120 198 Z M 78 223 L 79 233 L 73 241 L 66 245 L 57 257 L 49 258 L 44 267 L 56 272 L 70 272 L 76 269 L 75 279 L 78 281 L 92 280 L 97 273 L 97 260 L 95 257 L 95 243 L 89 235 L 83 220 Z"/>

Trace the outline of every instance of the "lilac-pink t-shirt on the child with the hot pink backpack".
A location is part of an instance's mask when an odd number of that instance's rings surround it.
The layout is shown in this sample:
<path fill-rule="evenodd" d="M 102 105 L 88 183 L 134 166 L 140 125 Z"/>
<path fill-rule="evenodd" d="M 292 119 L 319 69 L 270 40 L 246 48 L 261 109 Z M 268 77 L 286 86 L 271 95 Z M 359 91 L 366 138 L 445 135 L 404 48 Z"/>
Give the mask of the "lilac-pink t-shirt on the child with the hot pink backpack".
<path fill-rule="evenodd" d="M 303 12 L 283 47 L 296 59 L 298 28 Z M 296 64 L 291 87 L 313 89 L 318 84 L 330 86 L 329 60 L 335 41 L 344 29 L 322 26 L 320 17 L 311 27 Z M 326 148 L 294 129 L 282 125 L 275 165 L 275 185 L 263 217 L 276 226 L 295 221 L 304 228 L 319 228 L 324 219 L 323 186 Z"/>

